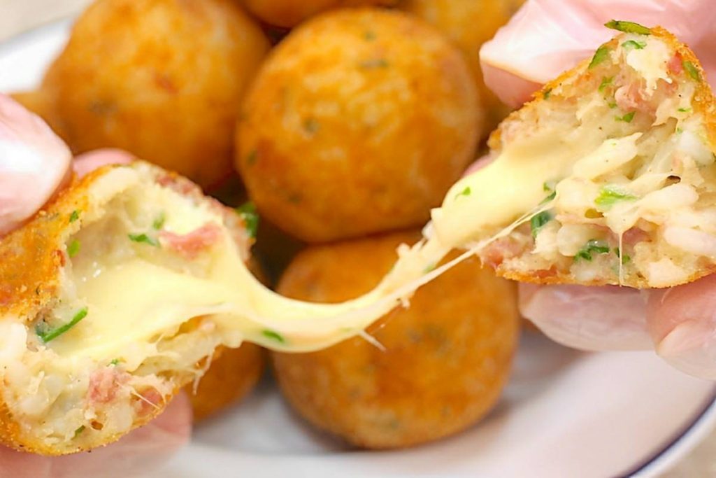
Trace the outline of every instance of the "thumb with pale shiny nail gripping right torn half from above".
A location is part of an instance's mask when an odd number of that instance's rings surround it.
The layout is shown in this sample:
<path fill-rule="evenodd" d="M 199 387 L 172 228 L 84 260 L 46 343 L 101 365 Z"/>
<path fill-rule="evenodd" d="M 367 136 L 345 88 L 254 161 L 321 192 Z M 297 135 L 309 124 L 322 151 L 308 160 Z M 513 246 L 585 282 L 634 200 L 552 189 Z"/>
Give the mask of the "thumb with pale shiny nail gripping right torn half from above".
<path fill-rule="evenodd" d="M 612 18 L 661 25 L 710 59 L 711 0 L 529 0 L 480 49 L 485 83 L 513 107 L 614 36 Z M 710 66 L 707 65 L 707 70 Z"/>

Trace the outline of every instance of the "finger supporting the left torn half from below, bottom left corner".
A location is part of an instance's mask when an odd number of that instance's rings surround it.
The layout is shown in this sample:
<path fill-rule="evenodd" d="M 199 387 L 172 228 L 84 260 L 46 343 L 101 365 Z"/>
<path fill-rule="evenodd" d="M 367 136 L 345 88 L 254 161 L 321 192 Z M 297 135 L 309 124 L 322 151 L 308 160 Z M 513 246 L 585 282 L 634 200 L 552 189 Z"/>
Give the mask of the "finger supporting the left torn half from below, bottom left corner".
<path fill-rule="evenodd" d="M 65 457 L 40 457 L 0 449 L 0 477 L 16 478 L 120 478 L 143 474 L 164 464 L 184 446 L 191 431 L 188 397 L 174 398 L 163 414 L 115 444 Z"/>

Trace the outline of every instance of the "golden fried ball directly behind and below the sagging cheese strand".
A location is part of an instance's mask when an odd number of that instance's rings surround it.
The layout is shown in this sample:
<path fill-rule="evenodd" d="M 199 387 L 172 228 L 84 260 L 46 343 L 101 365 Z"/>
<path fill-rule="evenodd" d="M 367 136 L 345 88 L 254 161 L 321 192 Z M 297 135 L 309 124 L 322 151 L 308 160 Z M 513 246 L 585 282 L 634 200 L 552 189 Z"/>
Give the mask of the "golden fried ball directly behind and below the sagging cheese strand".
<path fill-rule="evenodd" d="M 391 234 L 299 254 L 279 292 L 339 302 L 377 284 L 397 257 Z M 455 434 L 493 407 L 511 367 L 518 333 L 513 284 L 470 259 L 422 287 L 410 309 L 368 333 L 314 353 L 274 353 L 289 403 L 312 424 L 367 448 L 411 446 Z"/>

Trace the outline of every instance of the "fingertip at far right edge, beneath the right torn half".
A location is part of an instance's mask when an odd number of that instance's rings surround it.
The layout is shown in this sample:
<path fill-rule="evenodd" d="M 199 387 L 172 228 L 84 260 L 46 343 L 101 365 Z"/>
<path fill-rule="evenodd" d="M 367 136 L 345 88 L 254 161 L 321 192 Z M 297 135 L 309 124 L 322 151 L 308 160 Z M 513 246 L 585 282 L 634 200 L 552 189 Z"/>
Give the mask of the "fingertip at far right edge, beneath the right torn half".
<path fill-rule="evenodd" d="M 690 375 L 716 378 L 716 275 L 652 292 L 647 325 L 664 360 Z"/>

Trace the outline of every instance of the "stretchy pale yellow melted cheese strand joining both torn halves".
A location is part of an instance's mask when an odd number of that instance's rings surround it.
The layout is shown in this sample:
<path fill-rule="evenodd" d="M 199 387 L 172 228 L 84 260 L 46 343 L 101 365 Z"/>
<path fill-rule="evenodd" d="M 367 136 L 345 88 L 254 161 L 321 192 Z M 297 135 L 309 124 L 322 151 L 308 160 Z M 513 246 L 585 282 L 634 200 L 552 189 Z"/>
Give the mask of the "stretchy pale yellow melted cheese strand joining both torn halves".
<path fill-rule="evenodd" d="M 132 363 L 139 365 L 146 356 L 156 355 L 152 344 L 163 334 L 172 335 L 193 317 L 211 315 L 222 343 L 228 346 L 248 340 L 275 350 L 328 347 L 362 333 L 418 287 L 478 252 L 496 236 L 508 234 L 511 229 L 503 229 L 505 224 L 544 199 L 544 182 L 568 175 L 575 157 L 589 157 L 604 145 L 603 138 L 594 135 L 580 138 L 581 142 L 575 143 L 555 130 L 505 148 L 490 166 L 459 181 L 442 208 L 433 211 L 434 229 L 427 230 L 435 234 L 429 233 L 425 242 L 403 250 L 390 274 L 374 290 L 342 304 L 300 302 L 268 290 L 246 269 L 226 230 L 221 241 L 211 247 L 205 277 L 166 267 L 161 262 L 163 252 L 130 242 L 127 233 L 137 231 L 130 230 L 133 226 L 127 226 L 127 221 L 115 221 L 125 224 L 125 229 L 87 230 L 83 244 L 93 236 L 111 235 L 112 254 L 83 246 L 82 253 L 72 259 L 77 307 L 86 305 L 89 313 L 50 345 L 66 360 L 121 357 L 131 370 Z M 176 234 L 186 234 L 207 221 L 221 224 L 216 211 L 142 181 L 141 167 L 117 171 L 122 171 L 125 184 L 117 186 L 119 179 L 112 178 L 115 199 L 106 200 L 106 214 L 111 216 L 114 209 L 135 214 L 147 209 L 145 215 L 150 217 L 166 212 L 165 227 Z M 470 194 L 462 193 L 465 188 Z M 110 204 L 117 197 L 124 202 Z M 126 211 L 120 216 L 123 214 Z M 500 233 L 485 239 L 487 231 L 495 230 Z M 462 257 L 435 269 L 451 249 L 467 249 L 477 239 L 482 241 Z M 127 248 L 129 253 L 114 250 Z"/>

